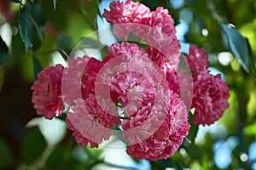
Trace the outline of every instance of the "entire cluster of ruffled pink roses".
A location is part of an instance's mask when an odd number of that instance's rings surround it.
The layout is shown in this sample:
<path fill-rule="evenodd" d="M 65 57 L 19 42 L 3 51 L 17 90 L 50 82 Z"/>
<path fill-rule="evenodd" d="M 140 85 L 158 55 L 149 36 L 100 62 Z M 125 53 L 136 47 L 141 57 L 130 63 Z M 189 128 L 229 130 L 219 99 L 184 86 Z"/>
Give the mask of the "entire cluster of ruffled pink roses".
<path fill-rule="evenodd" d="M 52 119 L 69 105 L 67 128 L 84 147 L 98 147 L 119 129 L 129 155 L 154 161 L 172 156 L 183 143 L 190 109 L 195 108 L 198 125 L 223 116 L 229 89 L 207 71 L 204 50 L 190 45 L 189 71 L 178 71 L 180 44 L 166 9 L 117 1 L 102 16 L 116 37 L 127 40 L 133 34 L 146 46 L 115 42 L 102 61 L 83 56 L 68 59 L 65 68 L 45 68 L 32 85 L 38 115 Z"/>

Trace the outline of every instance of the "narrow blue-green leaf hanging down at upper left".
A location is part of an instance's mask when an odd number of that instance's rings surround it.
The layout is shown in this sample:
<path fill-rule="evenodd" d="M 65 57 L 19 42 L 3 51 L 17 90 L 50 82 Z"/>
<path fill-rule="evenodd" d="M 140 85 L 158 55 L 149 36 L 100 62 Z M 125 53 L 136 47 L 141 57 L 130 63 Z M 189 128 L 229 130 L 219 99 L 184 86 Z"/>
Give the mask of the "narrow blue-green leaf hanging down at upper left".
<path fill-rule="evenodd" d="M 32 48 L 32 23 L 25 9 L 20 11 L 19 23 L 18 23 L 20 37 L 25 45 L 26 53 L 28 48 Z"/>

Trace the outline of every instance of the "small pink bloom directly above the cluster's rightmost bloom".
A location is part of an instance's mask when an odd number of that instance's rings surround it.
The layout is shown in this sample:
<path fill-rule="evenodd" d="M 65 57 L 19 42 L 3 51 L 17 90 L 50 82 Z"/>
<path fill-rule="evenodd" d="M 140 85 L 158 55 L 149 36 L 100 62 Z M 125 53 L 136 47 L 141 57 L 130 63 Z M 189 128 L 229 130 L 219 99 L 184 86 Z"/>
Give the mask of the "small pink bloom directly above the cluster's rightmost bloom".
<path fill-rule="evenodd" d="M 209 67 L 208 54 L 196 45 L 191 44 L 189 46 L 189 54 L 186 57 L 189 68 L 194 77 L 198 74 L 208 72 Z"/>

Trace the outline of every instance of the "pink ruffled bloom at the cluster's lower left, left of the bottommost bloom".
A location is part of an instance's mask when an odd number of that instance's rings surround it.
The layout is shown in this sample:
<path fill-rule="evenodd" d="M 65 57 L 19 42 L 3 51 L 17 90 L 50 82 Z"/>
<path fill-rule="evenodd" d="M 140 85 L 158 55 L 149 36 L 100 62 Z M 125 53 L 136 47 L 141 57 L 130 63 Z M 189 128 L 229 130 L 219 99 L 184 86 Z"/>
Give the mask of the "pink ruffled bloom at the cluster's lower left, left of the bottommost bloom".
<path fill-rule="evenodd" d="M 91 148 L 98 147 L 113 133 L 111 127 L 120 123 L 117 111 L 116 116 L 109 115 L 97 102 L 96 96 L 89 94 L 85 100 L 75 100 L 67 113 L 67 128 L 74 131 L 76 141 L 84 147 L 88 143 Z"/>

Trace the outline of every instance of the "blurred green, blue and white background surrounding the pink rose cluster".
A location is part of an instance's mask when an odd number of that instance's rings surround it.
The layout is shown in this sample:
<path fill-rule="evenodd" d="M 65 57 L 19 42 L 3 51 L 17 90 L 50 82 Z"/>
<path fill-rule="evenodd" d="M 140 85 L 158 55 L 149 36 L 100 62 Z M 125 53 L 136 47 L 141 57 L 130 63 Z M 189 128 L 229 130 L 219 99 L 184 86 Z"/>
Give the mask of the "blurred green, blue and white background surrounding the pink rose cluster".
<path fill-rule="evenodd" d="M 103 145 L 119 147 L 83 148 L 63 119 L 38 117 L 30 89 L 38 71 L 64 63 L 83 37 L 100 29 L 110 2 L 0 0 L 0 169 L 256 169 L 254 0 L 138 1 L 167 8 L 183 52 L 189 43 L 204 48 L 210 71 L 230 88 L 224 116 L 211 126 L 191 125 L 170 159 L 134 161 L 115 139 Z"/>

